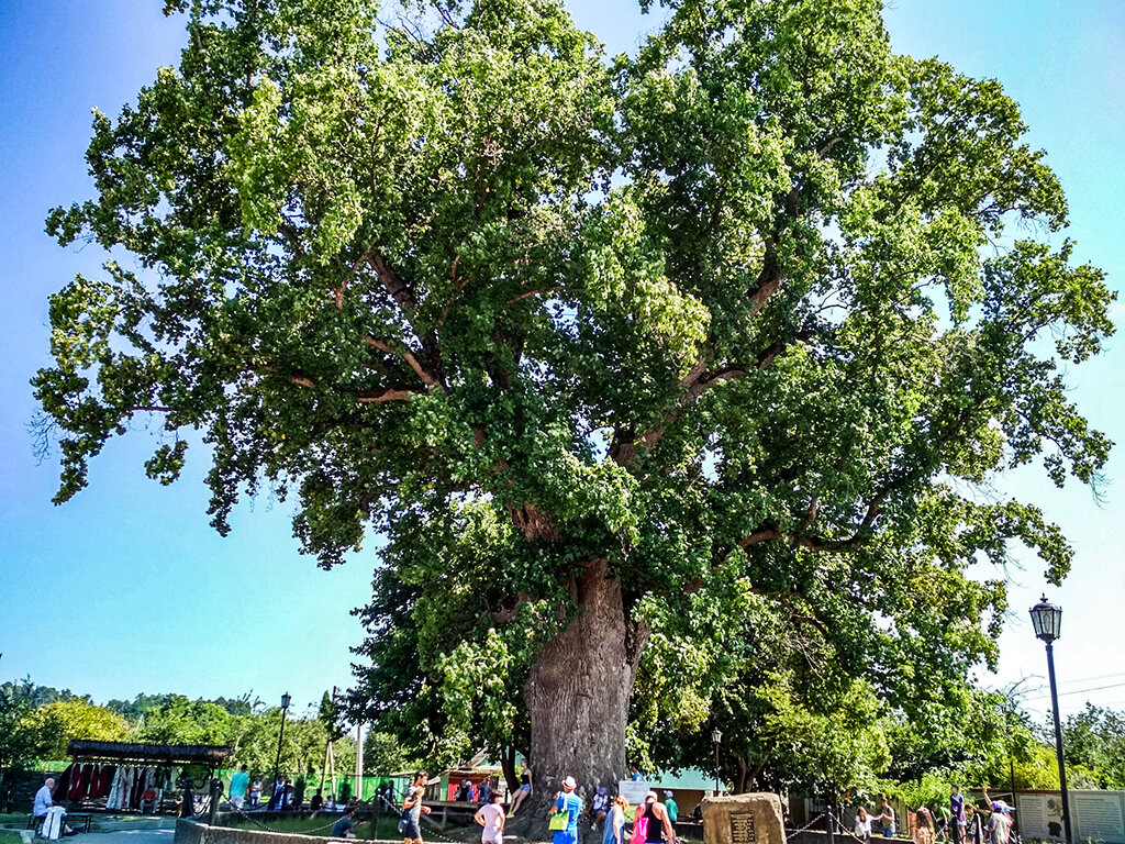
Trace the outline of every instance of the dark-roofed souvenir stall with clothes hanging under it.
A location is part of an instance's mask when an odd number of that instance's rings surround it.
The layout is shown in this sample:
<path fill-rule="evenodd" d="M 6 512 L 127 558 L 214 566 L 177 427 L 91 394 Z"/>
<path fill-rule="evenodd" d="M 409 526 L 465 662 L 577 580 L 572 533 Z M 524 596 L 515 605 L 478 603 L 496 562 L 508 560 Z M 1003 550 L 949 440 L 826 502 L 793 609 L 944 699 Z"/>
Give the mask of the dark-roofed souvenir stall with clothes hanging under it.
<path fill-rule="evenodd" d="M 56 803 L 156 814 L 164 806 L 176 806 L 186 766 L 206 769 L 209 779 L 230 757 L 231 748 L 74 739 L 66 753 L 71 764 L 55 783 Z"/>

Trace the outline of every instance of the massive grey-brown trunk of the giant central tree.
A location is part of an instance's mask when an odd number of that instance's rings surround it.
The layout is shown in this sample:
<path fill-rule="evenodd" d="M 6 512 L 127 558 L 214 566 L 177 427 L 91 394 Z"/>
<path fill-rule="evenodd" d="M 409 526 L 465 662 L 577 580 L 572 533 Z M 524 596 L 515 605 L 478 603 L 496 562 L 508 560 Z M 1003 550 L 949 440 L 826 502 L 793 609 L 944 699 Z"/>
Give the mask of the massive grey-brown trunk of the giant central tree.
<path fill-rule="evenodd" d="M 524 686 L 533 806 L 554 797 L 564 776 L 591 794 L 626 773 L 629 694 L 648 630 L 627 618 L 606 560 L 591 563 L 572 592 L 582 610 L 542 648 Z"/>

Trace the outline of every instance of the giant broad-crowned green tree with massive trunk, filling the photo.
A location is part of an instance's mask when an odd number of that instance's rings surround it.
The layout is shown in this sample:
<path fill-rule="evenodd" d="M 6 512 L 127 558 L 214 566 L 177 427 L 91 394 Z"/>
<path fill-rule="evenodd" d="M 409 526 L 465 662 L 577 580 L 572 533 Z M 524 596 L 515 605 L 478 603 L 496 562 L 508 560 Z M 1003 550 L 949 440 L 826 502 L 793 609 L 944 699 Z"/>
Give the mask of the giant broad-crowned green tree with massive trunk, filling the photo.
<path fill-rule="evenodd" d="M 518 682 L 541 781 L 624 772 L 650 638 L 654 672 L 719 658 L 701 595 L 909 693 L 994 658 L 974 560 L 1065 574 L 982 485 L 1096 479 L 1060 363 L 1112 297 L 1048 245 L 1065 199 L 1016 105 L 893 54 L 879 2 L 667 0 L 613 62 L 552 0 L 166 6 L 179 68 L 96 116 L 97 195 L 48 219 L 137 264 L 52 297 L 60 502 L 158 414 L 148 474 L 201 431 L 219 531 L 270 487 L 324 566 L 381 533 L 407 604 L 372 656 L 411 616 L 404 682 L 476 676 L 501 743 Z"/>

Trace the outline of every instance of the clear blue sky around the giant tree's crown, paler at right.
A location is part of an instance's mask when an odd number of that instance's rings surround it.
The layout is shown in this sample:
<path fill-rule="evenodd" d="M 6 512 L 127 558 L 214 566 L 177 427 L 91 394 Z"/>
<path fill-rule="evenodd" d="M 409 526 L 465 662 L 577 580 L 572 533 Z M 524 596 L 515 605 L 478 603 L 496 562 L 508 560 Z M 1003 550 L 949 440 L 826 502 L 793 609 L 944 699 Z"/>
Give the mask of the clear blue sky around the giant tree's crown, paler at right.
<path fill-rule="evenodd" d="M 48 208 L 86 198 L 82 155 L 90 109 L 114 116 L 174 64 L 182 19 L 162 0 L 0 0 L 0 681 L 88 692 L 99 702 L 138 692 L 191 697 L 246 691 L 268 702 L 290 691 L 298 707 L 350 680 L 349 646 L 361 630 L 349 610 L 366 602 L 376 541 L 348 565 L 316 568 L 297 553 L 287 505 L 244 504 L 233 531 L 207 524 L 206 466 L 196 450 L 172 487 L 145 479 L 152 439 L 109 443 L 90 488 L 55 508 L 53 460 L 39 465 L 26 430 L 28 379 L 47 363 L 47 296 L 73 273 L 97 273 L 96 248 L 62 250 L 43 231 Z M 578 23 L 610 52 L 632 50 L 655 24 L 632 0 L 572 0 Z M 1023 106 L 1030 140 L 1047 150 L 1071 205 L 1076 257 L 1125 279 L 1125 3 L 1120 0 L 898 0 L 886 11 L 900 52 L 937 55 L 999 79 Z M 1115 309 L 1119 323 L 1125 308 Z M 1125 331 L 1125 324 L 1123 324 Z M 1074 397 L 1122 448 L 1098 506 L 1080 485 L 1056 491 L 1041 474 L 998 481 L 1043 506 L 1078 551 L 1048 596 L 1064 609 L 1055 646 L 1063 713 L 1087 699 L 1125 709 L 1123 522 L 1125 345 L 1077 370 Z M 994 573 L 982 571 L 982 576 Z M 998 675 L 1024 676 L 1042 711 L 1045 663 L 1026 608 L 1044 589 L 1034 559 L 1010 568 L 1012 618 Z M 1090 690 L 1090 691 L 1084 691 Z"/>

